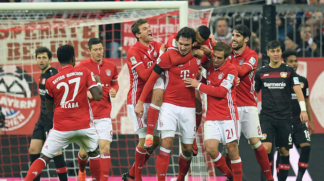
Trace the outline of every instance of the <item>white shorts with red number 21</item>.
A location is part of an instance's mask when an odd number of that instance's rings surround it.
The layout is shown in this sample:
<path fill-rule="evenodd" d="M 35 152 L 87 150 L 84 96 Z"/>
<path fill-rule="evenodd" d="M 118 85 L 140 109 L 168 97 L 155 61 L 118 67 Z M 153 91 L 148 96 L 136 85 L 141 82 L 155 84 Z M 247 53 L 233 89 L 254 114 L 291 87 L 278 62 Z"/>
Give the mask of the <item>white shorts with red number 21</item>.
<path fill-rule="evenodd" d="M 239 120 L 208 120 L 203 124 L 203 129 L 204 141 L 216 139 L 226 145 L 235 140 L 239 141 L 240 138 Z"/>

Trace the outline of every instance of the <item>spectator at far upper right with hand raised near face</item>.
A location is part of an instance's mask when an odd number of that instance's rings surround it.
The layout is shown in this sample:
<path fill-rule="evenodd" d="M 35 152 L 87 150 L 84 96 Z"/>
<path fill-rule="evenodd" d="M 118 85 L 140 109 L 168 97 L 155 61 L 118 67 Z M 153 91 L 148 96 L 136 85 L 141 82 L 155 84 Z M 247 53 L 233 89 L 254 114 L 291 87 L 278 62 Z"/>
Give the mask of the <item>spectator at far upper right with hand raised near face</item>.
<path fill-rule="evenodd" d="M 305 57 L 318 57 L 319 56 L 319 42 L 316 39 L 313 39 L 311 27 L 309 25 L 301 25 L 299 27 L 300 32 L 300 43 L 297 48 L 297 57 L 303 57 L 303 52 L 305 52 Z"/>

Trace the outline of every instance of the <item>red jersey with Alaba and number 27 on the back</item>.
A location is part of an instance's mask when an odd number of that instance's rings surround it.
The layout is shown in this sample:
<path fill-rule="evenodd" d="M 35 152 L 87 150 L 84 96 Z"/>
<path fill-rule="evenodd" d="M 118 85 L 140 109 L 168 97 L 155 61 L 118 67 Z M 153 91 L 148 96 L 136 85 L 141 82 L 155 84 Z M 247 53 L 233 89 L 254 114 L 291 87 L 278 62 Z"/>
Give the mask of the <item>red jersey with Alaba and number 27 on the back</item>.
<path fill-rule="evenodd" d="M 98 86 L 93 74 L 85 67 L 65 65 L 48 78 L 45 91 L 54 98 L 54 129 L 71 131 L 92 126 L 92 110 L 87 89 Z"/>

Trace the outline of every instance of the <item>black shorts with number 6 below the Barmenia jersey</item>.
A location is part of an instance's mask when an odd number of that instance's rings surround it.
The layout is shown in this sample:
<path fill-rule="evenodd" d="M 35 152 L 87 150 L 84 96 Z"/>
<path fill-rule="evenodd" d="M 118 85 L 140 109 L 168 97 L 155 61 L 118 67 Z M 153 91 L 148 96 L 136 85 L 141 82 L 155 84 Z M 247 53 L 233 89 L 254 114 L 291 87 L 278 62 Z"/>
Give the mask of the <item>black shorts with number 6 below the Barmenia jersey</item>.
<path fill-rule="evenodd" d="M 290 121 L 290 120 L 289 120 Z M 260 126 L 262 130 L 261 142 L 271 142 L 275 147 L 293 148 L 292 126 L 290 122 L 279 122 L 269 119 L 261 119 Z"/>

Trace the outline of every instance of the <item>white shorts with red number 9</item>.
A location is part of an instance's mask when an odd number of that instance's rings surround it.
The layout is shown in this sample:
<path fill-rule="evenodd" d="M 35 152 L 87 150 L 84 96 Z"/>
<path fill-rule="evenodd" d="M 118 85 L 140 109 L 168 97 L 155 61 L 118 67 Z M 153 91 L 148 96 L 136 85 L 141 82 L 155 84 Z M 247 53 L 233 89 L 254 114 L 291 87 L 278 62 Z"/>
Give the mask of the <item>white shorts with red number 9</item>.
<path fill-rule="evenodd" d="M 112 141 L 112 123 L 110 118 L 93 119 L 99 139 Z"/>

